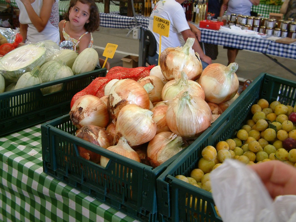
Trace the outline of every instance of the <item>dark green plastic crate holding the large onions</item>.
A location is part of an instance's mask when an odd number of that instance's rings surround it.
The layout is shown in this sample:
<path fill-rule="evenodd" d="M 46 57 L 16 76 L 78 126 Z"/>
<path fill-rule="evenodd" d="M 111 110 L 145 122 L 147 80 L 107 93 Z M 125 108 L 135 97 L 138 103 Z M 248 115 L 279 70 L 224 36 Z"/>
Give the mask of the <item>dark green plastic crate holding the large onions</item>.
<path fill-rule="evenodd" d="M 158 221 L 156 178 L 184 150 L 153 169 L 74 136 L 76 130 L 69 115 L 41 125 L 44 172 L 132 218 Z M 104 168 L 83 159 L 77 146 L 111 161 Z"/>

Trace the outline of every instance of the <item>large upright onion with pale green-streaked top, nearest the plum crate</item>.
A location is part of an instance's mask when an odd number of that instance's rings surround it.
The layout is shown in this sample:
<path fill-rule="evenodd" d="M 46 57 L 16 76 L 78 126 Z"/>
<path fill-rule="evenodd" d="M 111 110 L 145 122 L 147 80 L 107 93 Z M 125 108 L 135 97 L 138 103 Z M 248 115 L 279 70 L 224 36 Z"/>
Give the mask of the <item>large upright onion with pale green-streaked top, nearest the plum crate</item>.
<path fill-rule="evenodd" d="M 209 105 L 198 96 L 186 91 L 174 99 L 166 113 L 170 130 L 183 138 L 196 138 L 211 124 L 212 112 Z"/>

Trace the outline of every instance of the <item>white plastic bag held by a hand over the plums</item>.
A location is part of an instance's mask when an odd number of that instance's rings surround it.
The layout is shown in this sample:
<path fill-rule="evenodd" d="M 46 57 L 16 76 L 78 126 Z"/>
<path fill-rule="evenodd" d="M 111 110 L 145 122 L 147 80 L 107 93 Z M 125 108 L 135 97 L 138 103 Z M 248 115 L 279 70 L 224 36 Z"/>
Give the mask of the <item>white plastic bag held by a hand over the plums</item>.
<path fill-rule="evenodd" d="M 226 160 L 210 174 L 212 194 L 227 222 L 296 221 L 296 195 L 271 199 L 258 175 L 237 160 Z"/>

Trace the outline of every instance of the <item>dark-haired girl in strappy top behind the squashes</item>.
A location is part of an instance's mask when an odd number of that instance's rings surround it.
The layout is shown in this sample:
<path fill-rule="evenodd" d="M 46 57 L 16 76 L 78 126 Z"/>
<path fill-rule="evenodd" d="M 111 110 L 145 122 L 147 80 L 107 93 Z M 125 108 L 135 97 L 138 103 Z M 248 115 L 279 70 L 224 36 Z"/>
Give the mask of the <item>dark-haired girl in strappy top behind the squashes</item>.
<path fill-rule="evenodd" d="M 91 32 L 98 30 L 100 24 L 98 7 L 94 0 L 71 0 L 64 18 L 59 22 L 60 43 L 72 41 L 73 49 L 76 45 L 75 51 L 78 54 L 83 49 L 92 48 Z"/>

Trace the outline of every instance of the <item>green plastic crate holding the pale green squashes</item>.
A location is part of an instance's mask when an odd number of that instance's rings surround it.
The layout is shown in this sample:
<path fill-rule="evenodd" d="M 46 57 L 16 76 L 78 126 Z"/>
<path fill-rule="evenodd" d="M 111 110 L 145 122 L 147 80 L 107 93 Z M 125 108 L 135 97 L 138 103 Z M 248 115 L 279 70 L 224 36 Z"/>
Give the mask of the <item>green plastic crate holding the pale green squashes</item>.
<path fill-rule="evenodd" d="M 95 78 L 106 76 L 106 73 L 107 69 L 97 67 L 94 71 L 1 93 L 0 136 L 69 113 L 73 96 Z M 63 83 L 62 90 L 47 95 L 41 94 L 40 89 L 59 83 Z"/>

